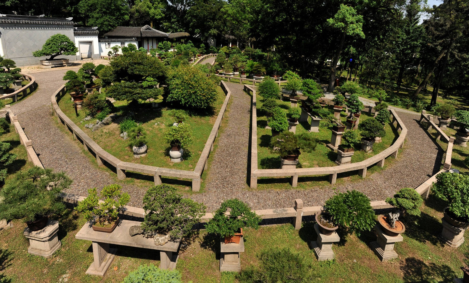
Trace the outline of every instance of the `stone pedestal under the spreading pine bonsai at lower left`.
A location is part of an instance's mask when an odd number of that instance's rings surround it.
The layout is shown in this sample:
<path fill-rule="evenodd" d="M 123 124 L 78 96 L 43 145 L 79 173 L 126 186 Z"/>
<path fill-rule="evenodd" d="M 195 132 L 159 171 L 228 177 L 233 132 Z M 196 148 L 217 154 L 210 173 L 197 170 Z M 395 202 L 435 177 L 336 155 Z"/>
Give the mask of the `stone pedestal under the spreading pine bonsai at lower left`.
<path fill-rule="evenodd" d="M 31 231 L 28 227 L 24 228 L 23 235 L 30 239 L 28 252 L 45 258 L 51 258 L 52 254 L 61 248 L 57 231 L 59 231 L 59 222 L 55 220 L 49 220 L 47 226 L 42 230 Z"/>

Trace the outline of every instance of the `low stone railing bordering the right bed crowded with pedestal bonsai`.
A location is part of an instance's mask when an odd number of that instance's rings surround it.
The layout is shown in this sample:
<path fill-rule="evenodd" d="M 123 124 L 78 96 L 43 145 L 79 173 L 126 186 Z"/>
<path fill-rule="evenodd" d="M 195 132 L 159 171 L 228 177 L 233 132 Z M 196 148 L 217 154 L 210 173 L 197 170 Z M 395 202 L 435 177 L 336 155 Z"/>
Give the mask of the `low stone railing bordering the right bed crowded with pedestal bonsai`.
<path fill-rule="evenodd" d="M 386 157 L 393 155 L 397 158 L 399 149 L 404 146 L 404 140 L 407 136 L 407 128 L 401 121 L 401 118 L 396 114 L 393 109 L 389 111 L 393 115 L 393 124 L 396 122 L 396 130 L 401 129 L 401 133 L 396 141 L 383 150 L 382 152 L 365 159 L 364 161 L 349 163 L 338 166 L 330 167 L 315 167 L 315 168 L 295 168 L 295 169 L 258 169 L 257 168 L 257 114 L 256 114 L 256 92 L 253 88 L 245 85 L 245 90 L 253 92 L 252 103 L 251 103 L 251 114 L 252 114 L 252 125 L 251 125 L 251 175 L 250 175 L 250 188 L 257 188 L 258 177 L 283 177 L 290 176 L 290 183 L 292 187 L 296 187 L 298 184 L 298 176 L 314 176 L 314 175 L 329 175 L 329 182 L 335 184 L 337 174 L 349 171 L 358 170 L 358 175 L 361 177 L 366 176 L 366 170 L 371 165 L 378 163 L 381 168 L 384 167 Z"/>

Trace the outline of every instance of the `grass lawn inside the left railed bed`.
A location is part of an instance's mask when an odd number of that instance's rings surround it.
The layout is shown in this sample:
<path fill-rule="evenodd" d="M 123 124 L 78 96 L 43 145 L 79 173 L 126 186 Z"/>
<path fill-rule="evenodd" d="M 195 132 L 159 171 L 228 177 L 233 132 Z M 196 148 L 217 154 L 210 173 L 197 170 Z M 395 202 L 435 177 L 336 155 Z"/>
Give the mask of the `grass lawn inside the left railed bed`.
<path fill-rule="evenodd" d="M 82 108 L 79 110 L 79 115 L 76 116 L 75 107 L 69 94 L 65 94 L 58 103 L 63 113 L 75 122 L 78 127 L 80 127 L 90 138 L 96 141 L 96 143 L 98 143 L 98 145 L 104 150 L 113 154 L 121 161 L 141 163 L 163 168 L 193 170 L 202 150 L 204 149 L 207 138 L 212 131 L 212 126 L 217 119 L 221 105 L 226 98 L 225 93 L 221 88 L 217 87 L 217 89 L 219 96 L 214 103 L 213 108 L 204 115 L 192 114 L 185 121 L 185 123 L 188 123 L 192 128 L 192 138 L 194 142 L 186 149 L 183 156 L 184 161 L 179 163 L 173 163 L 170 161 L 169 144 L 167 144 L 164 139 L 166 127 L 172 125 L 174 122 L 174 118 L 168 114 L 170 109 L 164 105 L 161 108 L 154 109 L 151 108 L 151 103 L 143 102 L 139 104 L 139 109 L 136 111 L 134 120 L 138 123 L 142 123 L 144 129 L 147 131 L 148 152 L 146 157 L 137 159 L 133 157 L 133 152 L 129 147 L 128 141 L 119 137 L 119 122 L 123 117 L 120 117 L 111 125 L 92 132 L 84 126 L 89 122 L 95 122 L 96 119 L 82 122 L 86 117 L 85 109 Z M 121 112 L 127 108 L 127 101 L 116 101 L 114 102 L 114 105 L 118 108 L 118 111 Z"/>

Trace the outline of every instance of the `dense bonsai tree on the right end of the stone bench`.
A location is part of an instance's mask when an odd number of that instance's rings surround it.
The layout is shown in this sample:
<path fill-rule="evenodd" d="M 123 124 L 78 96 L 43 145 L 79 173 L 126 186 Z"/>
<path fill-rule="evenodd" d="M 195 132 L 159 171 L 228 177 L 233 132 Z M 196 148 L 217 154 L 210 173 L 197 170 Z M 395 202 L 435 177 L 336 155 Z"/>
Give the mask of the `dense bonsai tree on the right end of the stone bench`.
<path fill-rule="evenodd" d="M 182 198 L 182 194 L 168 184 L 149 188 L 144 195 L 143 205 L 146 212 L 141 224 L 144 234 L 147 237 L 169 234 L 172 240 L 189 235 L 206 209 L 201 203 Z"/>

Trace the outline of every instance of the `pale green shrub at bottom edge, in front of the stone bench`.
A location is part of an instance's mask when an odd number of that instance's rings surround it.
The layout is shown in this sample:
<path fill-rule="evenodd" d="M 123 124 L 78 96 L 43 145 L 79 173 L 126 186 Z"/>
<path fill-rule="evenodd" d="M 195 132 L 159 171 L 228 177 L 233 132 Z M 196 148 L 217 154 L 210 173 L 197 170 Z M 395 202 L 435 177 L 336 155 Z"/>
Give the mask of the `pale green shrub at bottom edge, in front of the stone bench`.
<path fill-rule="evenodd" d="M 124 283 L 182 283 L 178 270 L 159 269 L 153 264 L 141 265 L 124 278 Z"/>

